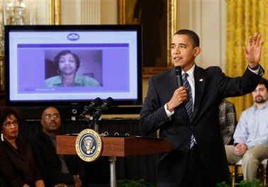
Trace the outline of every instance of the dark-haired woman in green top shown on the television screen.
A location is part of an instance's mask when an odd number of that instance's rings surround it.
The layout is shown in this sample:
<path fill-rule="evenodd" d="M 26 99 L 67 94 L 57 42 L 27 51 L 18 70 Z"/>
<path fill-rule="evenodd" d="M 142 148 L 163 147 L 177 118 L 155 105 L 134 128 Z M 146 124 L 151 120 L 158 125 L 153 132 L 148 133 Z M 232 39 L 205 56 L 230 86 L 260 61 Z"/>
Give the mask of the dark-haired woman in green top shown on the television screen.
<path fill-rule="evenodd" d="M 77 74 L 80 60 L 73 52 L 69 50 L 59 52 L 54 62 L 57 66 L 58 75 L 45 79 L 45 86 L 101 86 L 96 79 Z"/>

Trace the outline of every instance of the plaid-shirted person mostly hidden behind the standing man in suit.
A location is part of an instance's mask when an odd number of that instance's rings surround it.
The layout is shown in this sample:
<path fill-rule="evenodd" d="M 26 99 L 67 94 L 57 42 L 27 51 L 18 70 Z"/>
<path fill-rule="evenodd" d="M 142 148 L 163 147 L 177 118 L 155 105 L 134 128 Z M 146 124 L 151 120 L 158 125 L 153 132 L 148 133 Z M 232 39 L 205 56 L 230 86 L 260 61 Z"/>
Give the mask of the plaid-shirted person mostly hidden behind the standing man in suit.
<path fill-rule="evenodd" d="M 235 106 L 233 103 L 223 99 L 219 106 L 218 118 L 224 145 L 233 144 L 233 132 L 235 132 L 235 125 L 237 123 Z"/>

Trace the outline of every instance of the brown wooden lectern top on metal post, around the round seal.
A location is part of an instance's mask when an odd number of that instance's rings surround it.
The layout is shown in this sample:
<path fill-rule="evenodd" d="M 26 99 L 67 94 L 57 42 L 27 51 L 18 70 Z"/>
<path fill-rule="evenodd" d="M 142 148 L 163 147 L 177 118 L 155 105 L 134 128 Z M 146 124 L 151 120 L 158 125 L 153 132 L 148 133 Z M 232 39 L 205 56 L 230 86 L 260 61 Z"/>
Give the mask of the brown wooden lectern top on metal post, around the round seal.
<path fill-rule="evenodd" d="M 77 136 L 57 136 L 57 154 L 77 154 Z M 155 137 L 101 137 L 103 151 L 101 156 L 109 157 L 110 186 L 116 187 L 116 157 L 138 156 L 170 152 L 171 142 Z"/>

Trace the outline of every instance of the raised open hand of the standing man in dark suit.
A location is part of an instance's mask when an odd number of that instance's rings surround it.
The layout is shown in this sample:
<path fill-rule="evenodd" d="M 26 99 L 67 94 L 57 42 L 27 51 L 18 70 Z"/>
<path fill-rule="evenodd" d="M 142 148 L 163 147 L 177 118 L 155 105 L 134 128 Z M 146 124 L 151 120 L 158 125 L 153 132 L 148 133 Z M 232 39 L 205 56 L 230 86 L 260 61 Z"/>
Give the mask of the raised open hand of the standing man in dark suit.
<path fill-rule="evenodd" d="M 254 37 L 250 35 L 247 40 L 247 47 L 244 47 L 245 57 L 247 58 L 250 68 L 255 68 L 259 64 L 260 57 L 262 55 L 262 45 L 261 35 L 255 33 Z"/>

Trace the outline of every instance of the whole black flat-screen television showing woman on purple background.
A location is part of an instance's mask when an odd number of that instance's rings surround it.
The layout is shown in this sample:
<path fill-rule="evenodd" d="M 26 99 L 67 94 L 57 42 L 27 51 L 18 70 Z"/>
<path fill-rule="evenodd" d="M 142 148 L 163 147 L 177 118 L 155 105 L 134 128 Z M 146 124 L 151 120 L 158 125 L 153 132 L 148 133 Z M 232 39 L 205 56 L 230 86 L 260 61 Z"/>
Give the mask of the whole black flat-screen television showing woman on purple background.
<path fill-rule="evenodd" d="M 6 105 L 139 105 L 141 52 L 140 26 L 5 26 Z"/>

